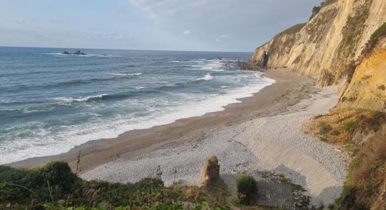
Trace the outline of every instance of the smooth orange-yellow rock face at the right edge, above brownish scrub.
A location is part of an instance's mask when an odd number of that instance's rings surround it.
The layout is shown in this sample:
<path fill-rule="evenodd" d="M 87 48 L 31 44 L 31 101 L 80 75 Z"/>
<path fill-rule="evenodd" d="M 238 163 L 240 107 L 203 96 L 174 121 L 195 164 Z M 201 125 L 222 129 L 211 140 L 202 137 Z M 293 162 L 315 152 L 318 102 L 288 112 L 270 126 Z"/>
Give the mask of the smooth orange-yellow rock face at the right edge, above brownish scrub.
<path fill-rule="evenodd" d="M 338 105 L 386 111 L 386 46 L 364 57 Z"/>

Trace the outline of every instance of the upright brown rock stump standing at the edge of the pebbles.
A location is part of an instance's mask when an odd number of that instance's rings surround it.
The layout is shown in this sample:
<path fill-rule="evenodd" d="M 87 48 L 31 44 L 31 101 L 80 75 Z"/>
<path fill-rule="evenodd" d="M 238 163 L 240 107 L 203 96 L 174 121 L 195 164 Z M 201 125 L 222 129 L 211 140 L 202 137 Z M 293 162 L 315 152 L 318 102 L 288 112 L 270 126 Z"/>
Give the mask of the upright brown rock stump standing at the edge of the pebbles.
<path fill-rule="evenodd" d="M 220 165 L 218 165 L 217 157 L 213 156 L 211 159 L 206 160 L 204 167 L 201 169 L 202 188 L 210 190 L 219 178 Z"/>

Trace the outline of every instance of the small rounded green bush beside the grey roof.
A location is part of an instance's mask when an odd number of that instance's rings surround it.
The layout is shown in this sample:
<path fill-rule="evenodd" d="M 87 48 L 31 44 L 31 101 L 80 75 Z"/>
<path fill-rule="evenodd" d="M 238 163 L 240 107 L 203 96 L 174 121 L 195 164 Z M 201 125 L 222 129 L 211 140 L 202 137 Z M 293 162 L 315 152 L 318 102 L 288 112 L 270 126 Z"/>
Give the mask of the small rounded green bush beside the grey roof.
<path fill-rule="evenodd" d="M 256 181 L 253 176 L 241 175 L 236 180 L 237 193 L 239 193 L 239 199 L 241 204 L 251 204 L 253 201 L 253 195 L 255 194 Z"/>

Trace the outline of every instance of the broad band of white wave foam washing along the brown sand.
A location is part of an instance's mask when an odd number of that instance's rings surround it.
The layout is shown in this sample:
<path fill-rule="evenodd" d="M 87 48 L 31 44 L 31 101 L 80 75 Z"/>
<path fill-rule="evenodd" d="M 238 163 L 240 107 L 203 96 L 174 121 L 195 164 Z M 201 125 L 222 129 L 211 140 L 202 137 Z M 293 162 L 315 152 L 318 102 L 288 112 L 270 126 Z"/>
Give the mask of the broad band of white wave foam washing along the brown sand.
<path fill-rule="evenodd" d="M 206 95 L 206 98 L 197 102 L 197 95 L 192 95 L 190 104 L 181 104 L 152 111 L 148 116 L 133 117 L 130 114 L 118 115 L 108 120 L 93 120 L 84 125 L 62 126 L 60 132 L 51 134 L 43 128 L 34 130 L 36 138 L 18 139 L 18 141 L 4 141 L 0 145 L 0 165 L 27 158 L 41 157 L 46 155 L 57 155 L 64 153 L 87 141 L 97 139 L 109 139 L 118 137 L 119 134 L 130 130 L 141 130 L 156 125 L 166 125 L 181 118 L 202 116 L 205 113 L 224 110 L 228 104 L 241 103 L 240 98 L 251 97 L 253 93 L 259 92 L 275 80 L 261 77 L 255 78 L 255 82 L 227 90 L 225 94 Z M 100 97 L 101 95 L 93 96 Z M 91 97 L 76 100 L 85 101 Z M 67 98 L 69 99 L 69 98 Z M 133 103 L 133 100 L 130 100 Z M 139 102 L 138 102 L 139 103 Z M 12 146 L 11 146 L 12 145 Z"/>

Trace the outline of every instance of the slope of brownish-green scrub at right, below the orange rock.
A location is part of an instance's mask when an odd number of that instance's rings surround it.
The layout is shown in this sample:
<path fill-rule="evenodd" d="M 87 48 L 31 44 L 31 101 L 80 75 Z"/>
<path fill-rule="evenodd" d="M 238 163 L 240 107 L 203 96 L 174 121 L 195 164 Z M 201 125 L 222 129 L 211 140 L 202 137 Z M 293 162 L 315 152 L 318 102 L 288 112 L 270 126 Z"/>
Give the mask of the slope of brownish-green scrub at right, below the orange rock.
<path fill-rule="evenodd" d="M 342 195 L 331 209 L 385 209 L 386 113 L 333 109 L 314 118 L 308 129 L 353 157 Z"/>

